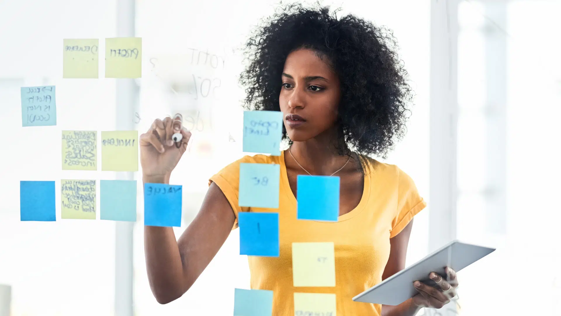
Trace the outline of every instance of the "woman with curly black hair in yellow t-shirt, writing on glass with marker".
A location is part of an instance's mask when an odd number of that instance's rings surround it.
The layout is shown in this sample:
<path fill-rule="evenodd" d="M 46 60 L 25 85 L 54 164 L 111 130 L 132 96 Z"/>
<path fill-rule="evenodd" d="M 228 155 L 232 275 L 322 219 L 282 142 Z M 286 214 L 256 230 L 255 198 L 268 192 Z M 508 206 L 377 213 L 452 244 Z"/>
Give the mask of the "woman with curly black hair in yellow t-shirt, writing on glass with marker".
<path fill-rule="evenodd" d="M 329 8 L 291 4 L 249 39 L 241 76 L 246 108 L 282 111 L 280 156 L 255 155 L 226 166 L 209 180 L 199 214 L 176 241 L 172 228 L 144 229 L 150 287 L 159 303 L 182 296 L 203 272 L 242 211 L 279 213 L 279 257 L 249 256 L 251 287 L 274 291 L 273 315 L 294 315 L 293 293 L 334 293 L 337 315 L 415 315 L 453 297 L 456 274 L 430 273 L 440 289 L 415 282 L 415 297 L 398 306 L 356 303 L 352 297 L 404 268 L 412 218 L 426 206 L 415 184 L 385 156 L 404 133 L 411 89 L 390 33 Z M 177 148 L 171 136 L 181 132 Z M 168 183 L 191 134 L 155 120 L 140 137 L 145 183 Z M 241 162 L 280 165 L 278 209 L 238 206 Z M 338 222 L 296 219 L 298 174 L 341 180 Z M 292 242 L 335 245 L 335 287 L 293 287 Z M 417 285 L 419 283 L 419 285 Z"/>

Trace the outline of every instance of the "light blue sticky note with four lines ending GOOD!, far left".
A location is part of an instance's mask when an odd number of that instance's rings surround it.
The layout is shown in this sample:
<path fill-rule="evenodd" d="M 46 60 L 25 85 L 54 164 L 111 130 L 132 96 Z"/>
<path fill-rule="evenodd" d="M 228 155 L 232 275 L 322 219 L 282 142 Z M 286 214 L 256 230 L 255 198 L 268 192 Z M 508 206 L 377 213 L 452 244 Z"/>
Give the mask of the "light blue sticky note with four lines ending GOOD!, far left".
<path fill-rule="evenodd" d="M 21 123 L 24 127 L 57 125 L 54 85 L 21 88 Z"/>

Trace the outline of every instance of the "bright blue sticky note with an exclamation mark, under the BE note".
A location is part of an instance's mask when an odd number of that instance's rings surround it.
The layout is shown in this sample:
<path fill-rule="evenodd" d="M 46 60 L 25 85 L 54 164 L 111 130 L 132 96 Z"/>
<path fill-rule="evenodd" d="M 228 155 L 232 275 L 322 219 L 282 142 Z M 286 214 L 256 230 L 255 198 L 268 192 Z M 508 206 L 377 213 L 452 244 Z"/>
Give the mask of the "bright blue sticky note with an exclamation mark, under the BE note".
<path fill-rule="evenodd" d="M 240 226 L 240 255 L 279 256 L 279 214 L 238 214 Z"/>

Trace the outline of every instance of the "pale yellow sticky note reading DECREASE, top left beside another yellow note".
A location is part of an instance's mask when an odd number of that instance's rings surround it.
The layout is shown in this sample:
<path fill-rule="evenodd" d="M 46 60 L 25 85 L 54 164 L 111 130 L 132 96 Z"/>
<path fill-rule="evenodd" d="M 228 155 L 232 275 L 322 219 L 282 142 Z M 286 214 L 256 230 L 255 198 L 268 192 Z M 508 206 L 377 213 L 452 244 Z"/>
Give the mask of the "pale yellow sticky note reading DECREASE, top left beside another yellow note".
<path fill-rule="evenodd" d="M 62 78 L 98 78 L 99 39 L 63 39 Z"/>

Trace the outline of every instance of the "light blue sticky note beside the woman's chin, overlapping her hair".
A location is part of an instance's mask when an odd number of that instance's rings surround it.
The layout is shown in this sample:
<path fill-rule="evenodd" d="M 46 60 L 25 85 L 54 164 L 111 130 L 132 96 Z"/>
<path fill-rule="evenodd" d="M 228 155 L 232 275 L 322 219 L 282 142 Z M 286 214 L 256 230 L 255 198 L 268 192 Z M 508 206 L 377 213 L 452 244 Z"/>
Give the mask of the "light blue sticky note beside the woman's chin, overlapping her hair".
<path fill-rule="evenodd" d="M 282 112 L 243 112 L 243 151 L 280 156 Z"/>

